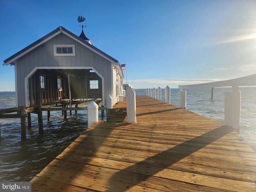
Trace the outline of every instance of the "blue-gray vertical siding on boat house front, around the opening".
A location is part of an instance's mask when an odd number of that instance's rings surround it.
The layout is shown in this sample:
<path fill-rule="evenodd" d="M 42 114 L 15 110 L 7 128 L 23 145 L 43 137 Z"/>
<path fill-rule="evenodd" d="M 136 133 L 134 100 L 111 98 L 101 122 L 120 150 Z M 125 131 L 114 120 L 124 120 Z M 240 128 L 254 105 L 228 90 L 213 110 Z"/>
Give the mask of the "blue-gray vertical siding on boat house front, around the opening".
<path fill-rule="evenodd" d="M 54 44 L 74 44 L 75 56 L 54 56 Z M 102 56 L 86 48 L 84 45 L 66 36 L 58 34 L 44 44 L 31 50 L 17 60 L 18 106 L 26 105 L 25 77 L 36 67 L 93 67 L 104 77 L 105 97 L 111 94 L 112 64 Z"/>

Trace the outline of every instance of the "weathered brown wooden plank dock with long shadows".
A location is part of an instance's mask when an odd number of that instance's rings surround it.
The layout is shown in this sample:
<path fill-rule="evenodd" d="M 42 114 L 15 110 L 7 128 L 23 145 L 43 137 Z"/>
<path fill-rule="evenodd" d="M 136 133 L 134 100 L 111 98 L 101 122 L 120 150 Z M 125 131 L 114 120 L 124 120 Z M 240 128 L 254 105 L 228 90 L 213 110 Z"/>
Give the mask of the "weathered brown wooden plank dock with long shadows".
<path fill-rule="evenodd" d="M 232 128 L 146 96 L 136 96 L 136 118 L 94 123 L 32 191 L 256 191 L 256 154 Z"/>

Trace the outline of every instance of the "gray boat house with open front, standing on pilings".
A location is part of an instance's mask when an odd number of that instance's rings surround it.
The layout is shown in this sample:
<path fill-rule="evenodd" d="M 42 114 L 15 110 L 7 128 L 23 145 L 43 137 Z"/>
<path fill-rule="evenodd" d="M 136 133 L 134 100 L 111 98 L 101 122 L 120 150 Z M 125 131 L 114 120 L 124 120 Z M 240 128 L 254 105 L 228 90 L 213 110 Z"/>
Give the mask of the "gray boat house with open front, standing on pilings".
<path fill-rule="evenodd" d="M 92 45 L 82 32 L 76 36 L 60 26 L 10 58 L 14 65 L 16 106 L 34 106 L 61 100 L 97 98 L 119 101 L 123 72 L 118 60 Z"/>

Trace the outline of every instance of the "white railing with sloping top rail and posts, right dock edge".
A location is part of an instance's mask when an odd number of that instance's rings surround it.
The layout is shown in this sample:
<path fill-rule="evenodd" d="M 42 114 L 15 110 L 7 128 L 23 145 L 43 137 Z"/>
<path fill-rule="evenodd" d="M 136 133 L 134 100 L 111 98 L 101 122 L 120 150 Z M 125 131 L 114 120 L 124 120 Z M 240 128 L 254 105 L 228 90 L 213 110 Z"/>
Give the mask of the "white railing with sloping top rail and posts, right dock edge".
<path fill-rule="evenodd" d="M 214 87 L 232 87 L 231 92 L 225 92 L 224 99 L 224 124 L 232 126 L 238 133 L 240 132 L 240 113 L 241 113 L 241 92 L 239 86 L 256 86 L 256 74 L 236 79 L 192 84 L 179 85 L 179 104 L 180 108 L 186 108 L 186 91 L 183 89 L 190 88 L 214 88 Z"/>

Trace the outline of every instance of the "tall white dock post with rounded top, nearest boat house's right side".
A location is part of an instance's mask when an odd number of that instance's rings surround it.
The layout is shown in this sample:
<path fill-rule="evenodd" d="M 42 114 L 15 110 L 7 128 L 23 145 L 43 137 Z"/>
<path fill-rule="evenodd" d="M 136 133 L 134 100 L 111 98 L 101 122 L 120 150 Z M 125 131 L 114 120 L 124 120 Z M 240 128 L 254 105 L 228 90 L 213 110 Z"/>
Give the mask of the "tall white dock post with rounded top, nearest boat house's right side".
<path fill-rule="evenodd" d="M 126 90 L 126 110 L 127 110 L 127 122 L 136 123 L 136 94 L 133 87 L 129 84 L 124 84 Z"/>

